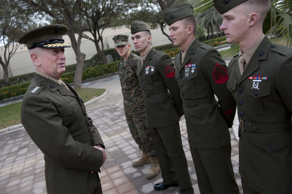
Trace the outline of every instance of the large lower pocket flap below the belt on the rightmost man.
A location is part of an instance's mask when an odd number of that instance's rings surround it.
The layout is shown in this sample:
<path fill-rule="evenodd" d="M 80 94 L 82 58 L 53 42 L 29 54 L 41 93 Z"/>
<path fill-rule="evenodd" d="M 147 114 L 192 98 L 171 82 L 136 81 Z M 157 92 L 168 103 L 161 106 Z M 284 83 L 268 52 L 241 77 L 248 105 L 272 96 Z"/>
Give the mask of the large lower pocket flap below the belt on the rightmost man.
<path fill-rule="evenodd" d="M 281 133 L 251 133 L 251 143 L 269 152 L 278 151 L 290 142 L 288 131 Z"/>

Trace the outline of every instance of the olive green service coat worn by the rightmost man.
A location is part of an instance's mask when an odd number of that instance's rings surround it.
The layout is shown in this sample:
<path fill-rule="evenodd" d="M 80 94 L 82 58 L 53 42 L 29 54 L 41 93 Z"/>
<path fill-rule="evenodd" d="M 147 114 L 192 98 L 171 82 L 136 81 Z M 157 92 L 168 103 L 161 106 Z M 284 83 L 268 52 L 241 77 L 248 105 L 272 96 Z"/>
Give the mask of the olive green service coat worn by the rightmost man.
<path fill-rule="evenodd" d="M 240 121 L 241 177 L 259 193 L 292 193 L 292 50 L 265 37 L 242 76 L 238 56 L 228 72 Z"/>

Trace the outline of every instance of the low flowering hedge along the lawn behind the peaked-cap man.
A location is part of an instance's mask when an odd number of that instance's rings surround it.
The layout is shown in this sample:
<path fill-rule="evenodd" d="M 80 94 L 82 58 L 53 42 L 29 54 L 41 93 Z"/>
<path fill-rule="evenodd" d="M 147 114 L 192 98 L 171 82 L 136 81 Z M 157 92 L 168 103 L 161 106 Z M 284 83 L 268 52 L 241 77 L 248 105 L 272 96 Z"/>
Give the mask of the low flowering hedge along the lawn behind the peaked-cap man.
<path fill-rule="evenodd" d="M 105 65 L 83 69 L 82 80 L 94 78 L 97 76 L 102 76 L 105 74 L 114 73 L 117 71 L 118 63 L 119 61 L 115 61 L 115 62 L 108 63 Z M 74 74 L 75 74 L 75 71 L 65 73 L 62 75 L 61 79 L 67 83 L 72 83 L 74 79 Z M 0 100 L 25 94 L 29 84 L 30 84 L 30 81 L 26 83 L 8 86 L 6 88 L 0 88 Z"/>

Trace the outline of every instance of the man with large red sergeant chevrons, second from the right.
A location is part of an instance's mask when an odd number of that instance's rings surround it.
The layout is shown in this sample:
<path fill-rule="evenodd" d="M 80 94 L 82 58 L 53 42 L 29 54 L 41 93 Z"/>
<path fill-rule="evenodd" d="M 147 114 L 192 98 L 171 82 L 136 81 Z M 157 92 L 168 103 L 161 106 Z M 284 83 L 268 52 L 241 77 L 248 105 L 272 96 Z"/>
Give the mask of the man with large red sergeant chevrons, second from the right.
<path fill-rule="evenodd" d="M 216 49 L 195 38 L 197 19 L 191 4 L 170 7 L 163 16 L 173 45 L 180 47 L 174 60 L 175 78 L 200 193 L 238 194 L 228 129 L 236 104 L 226 88 L 225 62 Z"/>

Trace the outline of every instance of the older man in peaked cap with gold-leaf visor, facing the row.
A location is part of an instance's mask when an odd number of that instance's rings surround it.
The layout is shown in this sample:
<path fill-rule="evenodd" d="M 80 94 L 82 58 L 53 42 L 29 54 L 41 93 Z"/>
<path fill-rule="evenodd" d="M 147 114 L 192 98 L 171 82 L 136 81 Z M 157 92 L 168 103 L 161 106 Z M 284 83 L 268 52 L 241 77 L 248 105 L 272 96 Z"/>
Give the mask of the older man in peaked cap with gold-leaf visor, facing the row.
<path fill-rule="evenodd" d="M 36 73 L 22 99 L 21 122 L 44 153 L 48 194 L 100 194 L 98 171 L 106 153 L 98 130 L 77 92 L 60 77 L 65 72 L 64 25 L 23 34 Z"/>

